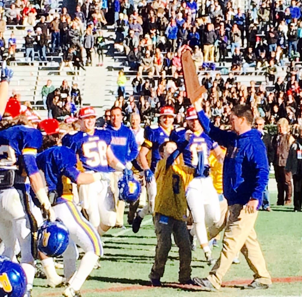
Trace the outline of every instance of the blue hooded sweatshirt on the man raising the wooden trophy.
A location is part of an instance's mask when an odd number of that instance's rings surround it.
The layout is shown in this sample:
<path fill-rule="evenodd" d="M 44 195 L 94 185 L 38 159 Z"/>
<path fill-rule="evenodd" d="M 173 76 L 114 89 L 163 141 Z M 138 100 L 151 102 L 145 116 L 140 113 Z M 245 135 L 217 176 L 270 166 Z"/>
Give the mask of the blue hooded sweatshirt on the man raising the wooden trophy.
<path fill-rule="evenodd" d="M 221 130 L 210 123 L 203 110 L 198 112 L 198 120 L 205 133 L 227 148 L 223 163 L 223 194 L 228 205 L 245 205 L 253 198 L 259 201 L 259 209 L 269 174 L 261 133 L 251 129 L 237 135 Z"/>

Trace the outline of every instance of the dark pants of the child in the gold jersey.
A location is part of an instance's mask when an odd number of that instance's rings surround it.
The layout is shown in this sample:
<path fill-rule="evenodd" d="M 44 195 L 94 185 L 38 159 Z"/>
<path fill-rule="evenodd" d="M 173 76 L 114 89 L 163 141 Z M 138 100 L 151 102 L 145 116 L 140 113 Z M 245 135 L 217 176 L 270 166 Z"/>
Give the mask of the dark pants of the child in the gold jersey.
<path fill-rule="evenodd" d="M 149 277 L 160 279 L 164 275 L 165 263 L 171 250 L 171 235 L 173 234 L 175 244 L 179 248 L 179 282 L 185 283 L 191 279 L 191 244 L 187 231 L 187 224 L 169 217 L 167 224 L 160 222 L 161 214 L 154 216 L 155 233 L 157 245 L 155 250 L 155 261 Z"/>

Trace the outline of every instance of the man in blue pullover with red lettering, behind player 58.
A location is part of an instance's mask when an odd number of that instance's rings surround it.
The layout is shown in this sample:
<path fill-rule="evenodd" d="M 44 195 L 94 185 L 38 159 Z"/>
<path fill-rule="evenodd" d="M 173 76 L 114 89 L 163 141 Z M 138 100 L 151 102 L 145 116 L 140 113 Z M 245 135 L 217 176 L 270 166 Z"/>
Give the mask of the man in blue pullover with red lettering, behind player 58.
<path fill-rule="evenodd" d="M 111 108 L 111 125 L 107 126 L 107 130 L 111 133 L 110 147 L 114 156 L 125 165 L 127 169 L 132 168 L 132 163 L 138 155 L 138 145 L 133 132 L 123 124 L 122 110 L 119 107 Z M 117 187 L 118 180 L 122 176 L 122 172 L 116 171 L 114 168 L 108 168 L 111 180 L 111 189 L 114 194 L 116 211 L 116 227 L 124 227 L 124 210 L 125 202 L 118 199 L 119 190 Z"/>

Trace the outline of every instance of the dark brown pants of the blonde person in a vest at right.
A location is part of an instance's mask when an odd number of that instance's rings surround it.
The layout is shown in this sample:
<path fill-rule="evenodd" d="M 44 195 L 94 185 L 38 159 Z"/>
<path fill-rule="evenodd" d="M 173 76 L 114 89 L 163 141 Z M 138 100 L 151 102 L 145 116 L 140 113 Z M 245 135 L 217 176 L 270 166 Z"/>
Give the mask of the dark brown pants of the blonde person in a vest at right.
<path fill-rule="evenodd" d="M 284 192 L 285 203 L 291 203 L 291 172 L 285 171 L 284 166 L 274 166 L 274 169 L 278 189 L 277 205 L 284 205 Z"/>

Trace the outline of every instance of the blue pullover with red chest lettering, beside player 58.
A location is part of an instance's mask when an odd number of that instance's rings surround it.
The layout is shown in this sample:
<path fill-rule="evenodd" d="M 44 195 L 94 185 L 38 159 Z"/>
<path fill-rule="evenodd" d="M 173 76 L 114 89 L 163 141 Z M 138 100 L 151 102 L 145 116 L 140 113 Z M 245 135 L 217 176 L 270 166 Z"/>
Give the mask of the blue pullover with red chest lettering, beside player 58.
<path fill-rule="evenodd" d="M 133 132 L 123 124 L 118 130 L 111 125 L 108 125 L 107 129 L 111 133 L 110 147 L 115 157 L 124 165 L 134 160 L 138 155 L 138 145 Z M 115 171 L 109 166 L 108 170 Z"/>

